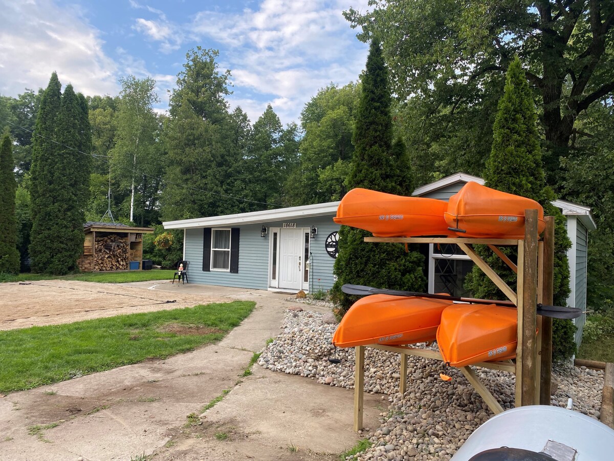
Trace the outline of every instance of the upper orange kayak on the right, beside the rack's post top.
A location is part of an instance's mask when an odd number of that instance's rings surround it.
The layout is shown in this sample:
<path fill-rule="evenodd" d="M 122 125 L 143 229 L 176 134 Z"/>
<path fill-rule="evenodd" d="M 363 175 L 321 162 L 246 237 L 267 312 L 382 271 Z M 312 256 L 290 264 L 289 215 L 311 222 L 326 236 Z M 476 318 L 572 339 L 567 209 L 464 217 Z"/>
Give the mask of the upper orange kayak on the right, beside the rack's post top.
<path fill-rule="evenodd" d="M 444 216 L 461 237 L 524 238 L 524 210 L 537 210 L 538 233 L 546 227 L 535 200 L 469 181 L 450 197 Z"/>

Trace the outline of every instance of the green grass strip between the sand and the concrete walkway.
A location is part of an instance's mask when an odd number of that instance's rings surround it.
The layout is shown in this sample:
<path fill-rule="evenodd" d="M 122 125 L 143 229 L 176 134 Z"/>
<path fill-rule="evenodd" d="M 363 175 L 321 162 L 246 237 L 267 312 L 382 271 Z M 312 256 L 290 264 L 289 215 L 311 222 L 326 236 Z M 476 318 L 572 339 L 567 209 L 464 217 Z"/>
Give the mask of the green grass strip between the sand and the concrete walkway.
<path fill-rule="evenodd" d="M 254 305 L 235 301 L 0 331 L 0 392 L 166 358 L 220 341 Z"/>

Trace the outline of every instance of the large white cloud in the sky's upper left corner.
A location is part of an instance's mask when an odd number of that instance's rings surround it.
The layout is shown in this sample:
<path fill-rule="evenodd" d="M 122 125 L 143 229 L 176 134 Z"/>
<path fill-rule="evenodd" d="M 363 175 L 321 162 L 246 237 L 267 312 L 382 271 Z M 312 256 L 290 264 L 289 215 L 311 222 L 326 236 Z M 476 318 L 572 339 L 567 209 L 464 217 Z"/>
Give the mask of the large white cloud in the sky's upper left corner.
<path fill-rule="evenodd" d="M 49 0 L 2 4 L 0 93 L 17 96 L 26 87 L 45 88 L 56 71 L 60 82 L 77 92 L 117 94 L 117 66 L 78 7 Z"/>

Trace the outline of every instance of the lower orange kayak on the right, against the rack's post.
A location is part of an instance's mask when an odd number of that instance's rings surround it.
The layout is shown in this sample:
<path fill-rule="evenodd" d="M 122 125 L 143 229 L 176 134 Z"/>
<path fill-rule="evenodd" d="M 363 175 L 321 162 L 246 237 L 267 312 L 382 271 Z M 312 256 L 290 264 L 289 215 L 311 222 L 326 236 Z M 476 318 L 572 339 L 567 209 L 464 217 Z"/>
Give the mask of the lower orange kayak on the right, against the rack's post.
<path fill-rule="evenodd" d="M 446 364 L 461 367 L 516 357 L 518 312 L 495 304 L 454 304 L 441 314 L 437 345 Z"/>

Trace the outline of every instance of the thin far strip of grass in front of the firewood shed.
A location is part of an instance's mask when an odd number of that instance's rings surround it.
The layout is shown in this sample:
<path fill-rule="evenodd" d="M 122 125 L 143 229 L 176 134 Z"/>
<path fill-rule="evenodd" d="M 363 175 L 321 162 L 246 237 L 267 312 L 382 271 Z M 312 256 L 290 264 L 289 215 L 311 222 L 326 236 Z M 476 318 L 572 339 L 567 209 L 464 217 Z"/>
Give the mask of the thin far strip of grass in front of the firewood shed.
<path fill-rule="evenodd" d="M 81 282 L 126 283 L 149 280 L 172 280 L 174 270 L 125 270 L 120 272 L 84 272 L 83 274 L 0 274 L 0 282 L 26 282 L 36 280 L 80 280 Z"/>

